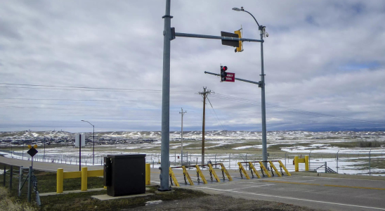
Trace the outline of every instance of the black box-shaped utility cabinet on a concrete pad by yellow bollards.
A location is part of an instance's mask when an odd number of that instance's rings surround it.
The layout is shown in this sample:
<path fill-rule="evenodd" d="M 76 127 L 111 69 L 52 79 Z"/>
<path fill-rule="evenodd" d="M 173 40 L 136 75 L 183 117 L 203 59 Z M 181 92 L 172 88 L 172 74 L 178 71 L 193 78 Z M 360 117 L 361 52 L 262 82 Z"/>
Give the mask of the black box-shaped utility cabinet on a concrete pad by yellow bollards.
<path fill-rule="evenodd" d="M 145 155 L 107 155 L 104 186 L 108 196 L 145 193 Z"/>

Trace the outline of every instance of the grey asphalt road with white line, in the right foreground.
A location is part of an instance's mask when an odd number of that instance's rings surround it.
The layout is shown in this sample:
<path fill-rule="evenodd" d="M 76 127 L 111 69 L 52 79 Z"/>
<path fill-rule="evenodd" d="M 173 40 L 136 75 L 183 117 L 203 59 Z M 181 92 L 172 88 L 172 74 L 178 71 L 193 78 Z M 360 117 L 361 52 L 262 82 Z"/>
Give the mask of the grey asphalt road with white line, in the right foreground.
<path fill-rule="evenodd" d="M 385 210 L 385 181 L 368 179 L 341 179 L 329 177 L 263 177 L 241 179 L 240 173 L 229 171 L 233 181 L 211 181 L 204 171 L 208 184 L 197 183 L 195 170 L 190 170 L 194 186 L 185 185 L 183 172 L 174 170 L 182 188 L 192 188 L 211 194 L 233 196 L 249 200 L 270 200 L 324 210 Z M 249 174 L 250 176 L 250 174 Z M 151 181 L 159 183 L 159 170 L 152 169 Z"/>

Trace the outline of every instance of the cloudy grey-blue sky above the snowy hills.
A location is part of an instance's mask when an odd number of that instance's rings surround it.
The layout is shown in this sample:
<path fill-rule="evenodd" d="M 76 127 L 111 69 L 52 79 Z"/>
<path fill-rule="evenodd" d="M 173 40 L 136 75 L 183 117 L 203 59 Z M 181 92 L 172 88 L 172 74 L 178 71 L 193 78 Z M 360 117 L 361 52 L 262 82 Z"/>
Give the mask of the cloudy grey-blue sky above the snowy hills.
<path fill-rule="evenodd" d="M 176 32 L 265 38 L 268 130 L 384 128 L 385 1 L 171 1 Z M 0 1 L 0 131 L 161 129 L 165 1 Z M 261 131 L 260 44 L 171 41 L 170 130 Z"/>

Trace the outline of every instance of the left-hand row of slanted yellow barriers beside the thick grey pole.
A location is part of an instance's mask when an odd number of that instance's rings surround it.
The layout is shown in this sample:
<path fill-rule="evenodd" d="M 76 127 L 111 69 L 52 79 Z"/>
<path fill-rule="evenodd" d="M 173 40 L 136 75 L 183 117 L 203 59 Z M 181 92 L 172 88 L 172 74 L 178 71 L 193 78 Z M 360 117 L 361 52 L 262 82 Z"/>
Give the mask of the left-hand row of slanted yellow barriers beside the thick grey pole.
<path fill-rule="evenodd" d="M 233 178 L 230 176 L 230 174 L 226 170 L 226 167 L 223 165 L 223 163 L 214 163 L 214 164 L 207 164 L 207 165 L 186 165 L 186 166 L 183 165 L 183 166 L 178 166 L 178 167 L 169 167 L 170 184 L 171 184 L 171 186 L 174 184 L 175 184 L 175 186 L 178 186 L 178 187 L 180 186 L 178 183 L 178 180 L 175 177 L 173 169 L 181 168 L 183 170 L 183 178 L 185 180 L 184 184 L 189 183 L 191 186 L 194 185 L 194 182 L 191 179 L 190 174 L 188 174 L 186 167 L 188 167 L 188 168 L 193 167 L 193 168 L 197 169 L 197 181 L 198 181 L 198 183 L 200 183 L 200 179 L 202 179 L 203 184 L 207 184 L 207 180 L 204 177 L 202 170 L 200 170 L 200 167 L 209 167 L 211 181 L 214 181 L 214 179 L 215 179 L 217 182 L 221 182 L 221 180 L 218 178 L 218 175 L 214 171 L 213 165 L 221 165 L 223 180 L 225 180 L 225 174 L 226 174 L 226 176 L 228 177 L 228 180 L 233 181 Z M 173 184 L 173 181 L 174 181 L 174 184 Z"/>

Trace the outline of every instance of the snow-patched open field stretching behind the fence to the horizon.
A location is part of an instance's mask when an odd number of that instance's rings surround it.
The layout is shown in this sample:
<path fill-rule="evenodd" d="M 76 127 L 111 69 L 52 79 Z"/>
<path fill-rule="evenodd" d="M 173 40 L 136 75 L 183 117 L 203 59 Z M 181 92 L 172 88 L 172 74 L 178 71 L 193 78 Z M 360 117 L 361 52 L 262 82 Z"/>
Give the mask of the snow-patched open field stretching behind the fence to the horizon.
<path fill-rule="evenodd" d="M 12 132 L 0 133 L 4 139 L 29 139 L 50 137 L 70 139 L 68 132 Z M 86 136 L 91 136 L 87 133 Z M 160 132 L 100 132 L 96 133 L 95 165 L 101 165 L 108 154 L 145 153 L 146 161 L 157 167 L 160 161 Z M 180 132 L 170 133 L 171 165 L 181 164 Z M 237 169 L 239 161 L 261 160 L 261 132 L 212 131 L 206 133 L 205 161 L 223 162 L 226 167 Z M 145 142 L 141 140 L 148 140 Z M 190 164 L 201 162 L 202 132 L 183 132 L 184 161 Z M 100 140 L 107 144 L 99 145 Z M 127 141 L 133 140 L 133 141 Z M 103 143 L 106 143 L 104 141 Z M 116 144 L 119 143 L 119 144 Z M 375 143 L 375 147 L 363 148 L 363 143 Z M 5 145 L 3 143 L 3 145 Z M 365 144 L 364 144 L 365 145 Z M 6 157 L 25 160 L 30 156 L 18 148 L 11 152 L 2 151 Z M 34 160 L 46 162 L 79 163 L 79 148 L 62 146 L 42 148 Z M 281 160 L 289 170 L 294 170 L 294 155 L 310 155 L 311 169 L 325 172 L 327 167 L 339 174 L 373 174 L 385 176 L 385 133 L 384 132 L 268 132 L 268 153 L 270 160 Z M 92 165 L 92 147 L 81 149 L 82 164 Z M 324 165 L 324 166 L 322 166 Z M 322 167 L 321 167 L 322 166 Z M 304 167 L 301 167 L 304 169 Z"/>

